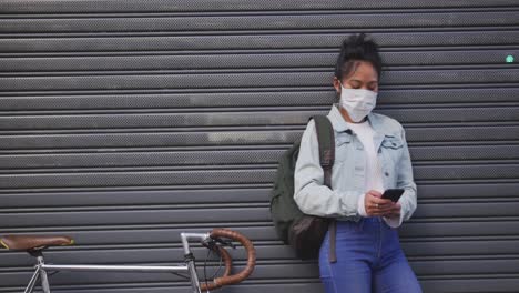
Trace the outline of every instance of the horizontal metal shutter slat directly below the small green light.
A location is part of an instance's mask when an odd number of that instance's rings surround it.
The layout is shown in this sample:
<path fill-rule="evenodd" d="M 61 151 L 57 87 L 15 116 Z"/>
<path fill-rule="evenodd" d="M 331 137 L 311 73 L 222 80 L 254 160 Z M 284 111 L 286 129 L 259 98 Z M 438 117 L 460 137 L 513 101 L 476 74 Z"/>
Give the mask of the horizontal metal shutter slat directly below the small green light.
<path fill-rule="evenodd" d="M 385 71 L 380 84 L 452 84 L 517 82 L 519 69 Z M 222 73 L 222 74 L 129 74 L 0 78 L 3 91 L 204 89 L 247 87 L 326 87 L 332 72 Z"/>

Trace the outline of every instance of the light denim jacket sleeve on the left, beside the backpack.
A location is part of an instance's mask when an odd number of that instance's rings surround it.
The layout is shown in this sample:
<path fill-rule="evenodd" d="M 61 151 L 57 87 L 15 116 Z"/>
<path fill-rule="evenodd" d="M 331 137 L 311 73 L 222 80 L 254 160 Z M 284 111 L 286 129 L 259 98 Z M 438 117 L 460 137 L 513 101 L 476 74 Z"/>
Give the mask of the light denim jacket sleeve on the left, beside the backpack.
<path fill-rule="evenodd" d="M 324 185 L 318 148 L 315 123 L 311 121 L 303 133 L 294 171 L 295 202 L 306 214 L 330 218 L 357 215 L 358 194 L 335 192 Z"/>

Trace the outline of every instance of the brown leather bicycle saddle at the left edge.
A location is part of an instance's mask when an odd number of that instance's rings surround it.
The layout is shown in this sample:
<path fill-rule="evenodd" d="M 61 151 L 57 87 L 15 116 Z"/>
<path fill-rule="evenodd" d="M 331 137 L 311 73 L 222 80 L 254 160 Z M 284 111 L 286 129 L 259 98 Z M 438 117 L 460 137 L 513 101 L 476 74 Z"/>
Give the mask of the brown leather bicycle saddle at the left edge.
<path fill-rule="evenodd" d="M 0 243 L 8 250 L 40 250 L 47 246 L 72 245 L 74 240 L 69 236 L 26 236 L 6 235 Z"/>

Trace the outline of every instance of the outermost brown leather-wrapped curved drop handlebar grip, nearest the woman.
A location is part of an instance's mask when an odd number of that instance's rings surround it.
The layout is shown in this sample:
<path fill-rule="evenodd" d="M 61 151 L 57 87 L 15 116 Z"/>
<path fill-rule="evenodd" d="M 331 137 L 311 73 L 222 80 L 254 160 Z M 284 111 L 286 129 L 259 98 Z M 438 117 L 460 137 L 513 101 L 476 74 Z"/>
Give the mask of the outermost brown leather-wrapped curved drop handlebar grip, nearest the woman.
<path fill-rule="evenodd" d="M 256 265 L 256 250 L 254 249 L 254 245 L 252 244 L 251 240 L 248 240 L 242 233 L 228 229 L 213 229 L 213 231 L 211 232 L 211 236 L 221 236 L 236 240 L 240 243 L 242 243 L 242 245 L 245 247 L 245 251 L 247 252 L 247 266 L 245 266 L 245 269 L 243 269 L 243 271 L 237 274 L 214 279 L 215 285 L 224 286 L 230 284 L 236 284 L 252 274 L 252 272 L 254 271 L 254 265 Z"/>

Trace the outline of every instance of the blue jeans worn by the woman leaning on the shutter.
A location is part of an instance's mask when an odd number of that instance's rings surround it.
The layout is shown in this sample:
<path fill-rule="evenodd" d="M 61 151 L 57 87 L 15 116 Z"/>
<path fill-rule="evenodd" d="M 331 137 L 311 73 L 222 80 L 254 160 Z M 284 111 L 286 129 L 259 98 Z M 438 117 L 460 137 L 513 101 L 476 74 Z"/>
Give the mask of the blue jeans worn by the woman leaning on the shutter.
<path fill-rule="evenodd" d="M 398 233 L 381 218 L 337 221 L 337 262 L 328 260 L 329 238 L 319 252 L 326 293 L 420 293 Z"/>

